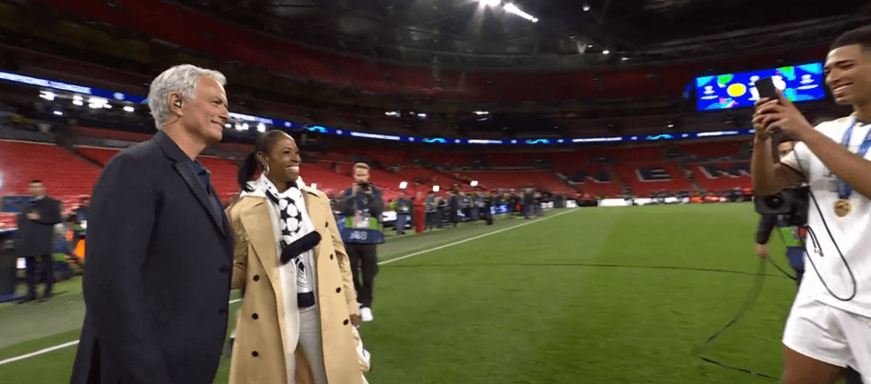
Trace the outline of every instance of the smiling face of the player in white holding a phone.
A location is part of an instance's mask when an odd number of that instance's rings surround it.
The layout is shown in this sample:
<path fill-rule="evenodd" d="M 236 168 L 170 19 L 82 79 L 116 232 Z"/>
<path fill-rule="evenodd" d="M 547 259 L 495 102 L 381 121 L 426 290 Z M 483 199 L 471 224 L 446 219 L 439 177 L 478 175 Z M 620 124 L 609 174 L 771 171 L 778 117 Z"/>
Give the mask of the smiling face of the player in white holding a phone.
<path fill-rule="evenodd" d="M 836 103 L 855 107 L 871 103 L 871 54 L 862 45 L 845 45 L 829 52 L 825 73 Z"/>

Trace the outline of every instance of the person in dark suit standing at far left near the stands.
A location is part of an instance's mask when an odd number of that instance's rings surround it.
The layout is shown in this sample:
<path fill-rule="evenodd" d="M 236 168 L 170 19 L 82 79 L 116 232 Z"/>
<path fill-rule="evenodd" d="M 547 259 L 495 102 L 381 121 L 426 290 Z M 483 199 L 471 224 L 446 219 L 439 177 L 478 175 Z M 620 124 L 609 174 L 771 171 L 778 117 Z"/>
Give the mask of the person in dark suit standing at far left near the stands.
<path fill-rule="evenodd" d="M 15 251 L 27 263 L 27 295 L 19 303 L 36 300 L 36 266 L 42 269 L 45 289 L 40 301 L 52 297 L 54 285 L 54 225 L 60 223 L 61 202 L 45 195 L 45 185 L 39 180 L 27 186 L 34 200 L 19 207 L 18 243 Z M 38 264 L 37 264 L 38 263 Z"/>

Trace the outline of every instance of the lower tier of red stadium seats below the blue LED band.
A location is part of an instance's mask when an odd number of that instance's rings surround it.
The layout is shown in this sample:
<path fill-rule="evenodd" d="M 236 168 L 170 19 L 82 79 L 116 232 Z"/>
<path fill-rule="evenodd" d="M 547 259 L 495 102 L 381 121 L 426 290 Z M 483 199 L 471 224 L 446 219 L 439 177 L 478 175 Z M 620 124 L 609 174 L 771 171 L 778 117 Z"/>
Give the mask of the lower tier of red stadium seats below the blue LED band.
<path fill-rule="evenodd" d="M 83 135 L 113 140 L 139 141 L 150 137 L 142 133 L 119 133 L 110 130 L 76 127 Z M 371 180 L 382 191 L 385 201 L 395 200 L 400 193 L 430 192 L 433 185 L 445 194 L 454 185 L 465 192 L 473 188 L 487 190 L 514 189 L 534 186 L 543 192 L 575 195 L 578 192 L 598 197 L 620 197 L 622 185 L 633 194 L 646 197 L 651 192 L 722 192 L 735 188 L 747 189 L 752 182 L 749 164 L 743 161 L 723 161 L 739 157 L 743 143 L 681 144 L 680 151 L 689 154 L 686 170 L 678 162 L 662 159 L 661 147 L 609 148 L 580 152 L 556 153 L 421 153 L 396 150 L 343 149 L 315 155 L 316 162 L 303 164 L 303 179 L 317 183 L 318 189 L 330 196 L 338 195 L 353 183 L 351 166 L 358 161 L 374 161 L 387 169 L 373 168 Z M 250 150 L 250 145 L 221 144 L 221 148 L 237 153 Z M 48 192 L 64 202 L 64 209 L 73 209 L 82 196 L 90 195 L 101 168 L 118 153 L 117 149 L 79 147 L 76 154 L 54 144 L 0 141 L 0 172 L 3 189 L 0 194 L 25 194 L 27 183 L 43 180 Z M 32 158 L 32 162 L 18 159 Z M 596 162 L 608 157 L 612 165 Z M 714 161 L 719 159 L 720 161 Z M 90 160 L 90 162 L 89 162 Z M 213 184 L 220 198 L 227 201 L 238 193 L 237 165 L 233 160 L 201 156 L 200 161 L 213 175 Z M 439 172 L 411 164 L 420 161 L 450 167 L 529 167 L 538 161 L 548 162 L 546 169 L 481 170 Z M 93 164 L 92 162 L 96 163 Z M 63 172 L 58 172 L 63 164 Z M 613 172 L 608 167 L 612 167 Z M 559 175 L 558 175 L 559 174 Z M 688 178 L 688 174 L 692 178 Z M 560 176 L 562 175 L 562 176 Z M 615 180 L 614 177 L 619 179 Z M 693 181 L 697 185 L 693 185 Z M 407 182 L 406 190 L 400 190 Z M 699 191 L 701 190 L 701 191 Z M 3 227 L 15 226 L 15 216 L 0 214 Z"/>

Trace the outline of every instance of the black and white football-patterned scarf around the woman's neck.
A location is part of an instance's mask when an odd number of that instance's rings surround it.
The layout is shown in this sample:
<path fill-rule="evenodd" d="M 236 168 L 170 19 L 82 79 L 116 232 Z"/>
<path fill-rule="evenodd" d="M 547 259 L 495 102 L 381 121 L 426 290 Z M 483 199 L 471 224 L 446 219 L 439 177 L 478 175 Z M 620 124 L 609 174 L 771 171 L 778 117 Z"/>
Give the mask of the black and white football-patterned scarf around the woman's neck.
<path fill-rule="evenodd" d="M 260 191 L 266 194 L 270 203 L 278 208 L 279 212 L 279 246 L 281 265 L 293 262 L 297 269 L 297 295 L 299 308 L 307 308 L 315 304 L 314 287 L 309 277 L 312 260 L 312 250 L 320 243 L 320 233 L 315 231 L 311 219 L 308 218 L 306 201 L 303 198 L 299 184 L 291 183 L 288 190 L 279 193 L 279 190 L 269 182 L 266 177 L 260 177 L 258 182 Z"/>

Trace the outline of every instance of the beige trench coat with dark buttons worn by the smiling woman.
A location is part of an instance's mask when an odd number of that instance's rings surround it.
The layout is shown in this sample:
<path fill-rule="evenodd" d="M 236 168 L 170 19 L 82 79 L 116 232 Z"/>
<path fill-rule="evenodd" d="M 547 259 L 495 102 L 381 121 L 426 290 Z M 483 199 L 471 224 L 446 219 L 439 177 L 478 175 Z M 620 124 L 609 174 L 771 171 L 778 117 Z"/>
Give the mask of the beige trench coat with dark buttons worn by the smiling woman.
<path fill-rule="evenodd" d="M 315 248 L 315 271 L 328 382 L 362 384 L 357 340 L 349 320 L 349 314 L 357 313 L 350 262 L 327 195 L 308 186 L 303 187 L 302 192 L 308 215 L 322 239 Z M 266 198 L 243 197 L 227 212 L 236 238 L 232 285 L 244 296 L 236 323 L 230 384 L 288 384 L 287 359 L 297 361 L 298 384 L 313 383 L 302 350 L 297 348 L 293 357 L 285 352 L 288 350 L 285 346 L 288 340 L 283 337 L 287 334 L 286 327 L 298 327 L 298 318 L 288 325 L 276 239 Z M 293 332 L 298 332 L 298 328 L 291 330 L 291 334 Z"/>

